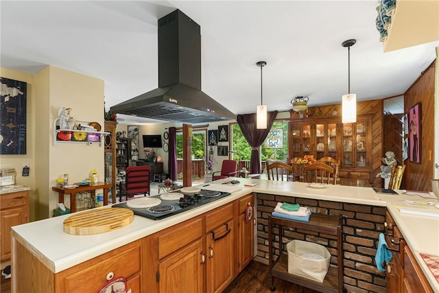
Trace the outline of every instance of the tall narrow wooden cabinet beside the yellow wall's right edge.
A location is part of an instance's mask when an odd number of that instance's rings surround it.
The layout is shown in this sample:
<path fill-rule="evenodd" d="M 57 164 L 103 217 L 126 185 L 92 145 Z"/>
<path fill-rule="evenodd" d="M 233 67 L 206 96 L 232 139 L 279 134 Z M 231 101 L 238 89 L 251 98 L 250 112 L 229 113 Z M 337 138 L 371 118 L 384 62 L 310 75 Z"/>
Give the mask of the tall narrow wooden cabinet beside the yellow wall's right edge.
<path fill-rule="evenodd" d="M 105 161 L 105 182 L 110 183 L 112 187 L 109 189 L 109 195 L 112 202 L 116 202 L 116 126 L 117 121 L 105 121 L 105 132 L 110 134 L 104 137 L 104 161 Z"/>

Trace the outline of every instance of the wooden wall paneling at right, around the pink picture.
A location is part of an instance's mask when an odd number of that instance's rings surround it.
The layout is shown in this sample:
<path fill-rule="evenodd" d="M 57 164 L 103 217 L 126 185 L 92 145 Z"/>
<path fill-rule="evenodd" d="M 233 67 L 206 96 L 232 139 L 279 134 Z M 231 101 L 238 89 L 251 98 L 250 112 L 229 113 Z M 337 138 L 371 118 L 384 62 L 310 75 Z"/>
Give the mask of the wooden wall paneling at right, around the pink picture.
<path fill-rule="evenodd" d="M 421 107 L 421 163 L 407 159 L 403 175 L 405 188 L 410 190 L 431 191 L 430 179 L 434 178 L 434 71 L 433 62 L 404 94 L 405 113 L 418 102 Z"/>

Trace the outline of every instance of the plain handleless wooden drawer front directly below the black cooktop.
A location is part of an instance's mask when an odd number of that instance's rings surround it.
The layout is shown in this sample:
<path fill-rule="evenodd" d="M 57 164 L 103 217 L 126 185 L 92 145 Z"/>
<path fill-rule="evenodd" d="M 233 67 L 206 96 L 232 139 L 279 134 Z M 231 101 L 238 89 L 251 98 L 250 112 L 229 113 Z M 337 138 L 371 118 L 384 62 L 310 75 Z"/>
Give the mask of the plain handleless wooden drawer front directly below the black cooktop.
<path fill-rule="evenodd" d="M 190 220 L 188 224 L 180 228 L 173 228 L 171 231 L 158 236 L 158 258 L 163 259 L 178 249 L 187 246 L 203 235 L 203 220 Z"/>

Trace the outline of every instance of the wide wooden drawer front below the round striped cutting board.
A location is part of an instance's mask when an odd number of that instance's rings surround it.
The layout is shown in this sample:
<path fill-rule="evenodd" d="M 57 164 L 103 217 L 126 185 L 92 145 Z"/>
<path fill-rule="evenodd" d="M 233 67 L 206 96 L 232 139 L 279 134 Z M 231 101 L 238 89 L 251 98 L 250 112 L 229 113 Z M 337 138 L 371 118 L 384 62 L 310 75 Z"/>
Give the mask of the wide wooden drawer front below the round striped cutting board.
<path fill-rule="evenodd" d="M 67 270 L 65 290 L 60 290 L 60 292 L 97 292 L 108 282 L 106 276 L 110 272 L 114 274 L 114 278 L 127 279 L 139 274 L 141 271 L 140 242 L 127 244 L 72 269 L 75 272 Z M 130 282 L 130 285 L 135 288 L 135 283 L 135 281 Z"/>

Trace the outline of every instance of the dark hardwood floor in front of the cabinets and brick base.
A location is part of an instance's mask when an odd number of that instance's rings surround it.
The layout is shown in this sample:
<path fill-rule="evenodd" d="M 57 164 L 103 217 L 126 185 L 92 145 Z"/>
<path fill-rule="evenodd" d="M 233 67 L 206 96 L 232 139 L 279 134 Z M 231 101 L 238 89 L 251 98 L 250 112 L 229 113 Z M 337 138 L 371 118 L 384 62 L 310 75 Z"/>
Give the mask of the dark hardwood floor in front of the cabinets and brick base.
<path fill-rule="evenodd" d="M 318 293 L 317 291 L 274 278 L 277 293 Z M 1 276 L 1 293 L 11 292 L 11 279 Z M 268 266 L 252 261 L 247 268 L 223 291 L 223 293 L 269 293 L 270 272 Z"/>

